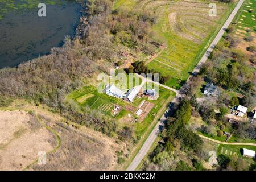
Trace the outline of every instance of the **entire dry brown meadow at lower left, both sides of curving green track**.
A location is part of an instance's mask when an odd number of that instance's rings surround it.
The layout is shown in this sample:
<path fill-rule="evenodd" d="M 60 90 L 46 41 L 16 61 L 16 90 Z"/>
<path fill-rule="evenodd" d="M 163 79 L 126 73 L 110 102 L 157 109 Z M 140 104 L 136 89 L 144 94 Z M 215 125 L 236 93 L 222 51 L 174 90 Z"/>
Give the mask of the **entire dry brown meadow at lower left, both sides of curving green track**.
<path fill-rule="evenodd" d="M 126 151 L 125 144 L 117 144 L 116 138 L 67 121 L 44 105 L 36 107 L 25 100 L 15 100 L 9 107 L 0 109 L 14 110 L 0 111 L 0 146 L 8 143 L 5 150 L 0 148 L 0 169 L 24 169 L 38 158 L 38 151 L 46 151 L 47 164 L 34 164 L 28 169 L 111 170 L 118 168 L 115 151 Z M 56 131 L 60 148 L 52 151 L 57 146 L 55 136 L 38 125 L 34 112 L 18 111 L 25 109 L 35 110 L 40 121 Z"/>

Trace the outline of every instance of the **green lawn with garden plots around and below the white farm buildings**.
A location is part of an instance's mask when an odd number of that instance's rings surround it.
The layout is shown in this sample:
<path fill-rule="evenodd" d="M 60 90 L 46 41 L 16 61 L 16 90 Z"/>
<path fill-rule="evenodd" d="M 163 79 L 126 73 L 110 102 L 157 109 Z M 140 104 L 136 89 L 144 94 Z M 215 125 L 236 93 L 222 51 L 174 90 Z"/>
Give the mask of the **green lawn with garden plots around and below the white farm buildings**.
<path fill-rule="evenodd" d="M 154 88 L 155 85 L 152 85 Z M 174 98 L 175 93 L 171 92 L 168 89 L 159 87 L 159 98 L 158 100 L 148 100 L 147 97 L 135 98 L 134 102 L 126 102 L 121 99 L 108 96 L 104 93 L 99 93 L 95 86 L 84 86 L 78 90 L 73 91 L 67 96 L 67 100 L 75 101 L 75 103 L 80 106 L 80 109 L 89 107 L 90 109 L 100 110 L 103 114 L 108 115 L 116 119 L 122 119 L 127 116 L 127 114 L 133 115 L 130 111 L 125 109 L 125 106 L 130 105 L 133 107 L 138 107 L 143 100 L 153 103 L 155 106 L 148 113 L 147 117 L 142 122 L 129 123 L 129 126 L 132 126 L 135 131 L 135 136 L 142 136 L 147 130 L 148 126 L 151 125 L 152 121 L 155 119 L 156 114 L 164 106 L 164 102 L 168 98 Z M 122 107 L 122 110 L 117 115 L 112 115 L 112 110 L 114 105 L 119 105 Z M 136 118 L 136 117 L 135 117 Z M 123 123 L 120 122 L 120 126 L 123 126 Z"/>

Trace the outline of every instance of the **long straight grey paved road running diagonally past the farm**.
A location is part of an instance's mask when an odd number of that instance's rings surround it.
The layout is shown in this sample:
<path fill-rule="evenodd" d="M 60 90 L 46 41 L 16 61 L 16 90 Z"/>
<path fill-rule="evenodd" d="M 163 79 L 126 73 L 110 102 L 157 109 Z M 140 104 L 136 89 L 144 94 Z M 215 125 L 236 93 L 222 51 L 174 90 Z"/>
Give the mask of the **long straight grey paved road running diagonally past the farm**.
<path fill-rule="evenodd" d="M 216 38 L 214 38 L 213 42 L 210 44 L 209 48 L 207 49 L 207 51 L 205 52 L 204 56 L 201 58 L 201 60 L 199 61 L 199 63 L 196 65 L 196 68 L 193 70 L 193 73 L 197 73 L 200 70 L 201 65 L 203 65 L 203 63 L 205 63 L 205 61 L 207 60 L 208 56 L 210 55 L 210 52 L 213 51 L 213 48 L 216 46 L 216 44 L 220 41 L 222 35 L 224 34 L 226 28 L 228 28 L 229 24 L 232 22 L 234 16 L 236 16 L 237 11 L 240 9 L 240 7 L 242 6 L 242 3 L 245 0 L 240 0 L 236 7 L 234 8 L 234 10 L 232 11 L 232 13 L 229 15 L 229 18 L 226 20 L 226 22 L 224 23 L 224 25 L 222 26 L 221 30 L 218 32 Z M 191 77 L 191 76 L 190 76 Z M 189 77 L 189 78 L 190 78 Z M 189 80 L 188 78 L 188 80 Z M 187 80 L 187 81 L 188 81 Z M 162 86 L 162 85 L 161 85 Z M 166 88 L 166 86 L 164 86 L 164 88 Z M 176 90 L 177 91 L 177 90 Z M 176 92 L 177 95 L 174 98 L 174 100 L 172 102 L 178 102 L 179 101 L 179 97 L 180 94 L 179 92 Z M 144 156 L 147 155 L 148 150 L 150 150 L 150 147 L 152 146 L 152 144 L 154 143 L 156 137 L 158 136 L 160 129 L 163 128 L 164 123 L 163 121 L 166 120 L 166 114 L 170 112 L 170 107 L 166 110 L 166 113 L 164 113 L 163 117 L 160 119 L 160 121 L 157 123 L 157 125 L 155 126 L 154 130 L 151 132 L 151 134 L 148 136 L 146 142 L 144 142 L 143 146 L 141 147 L 141 150 L 139 150 L 138 154 L 135 156 L 135 158 L 133 159 L 133 162 L 131 162 L 130 166 L 127 168 L 127 171 L 134 171 L 137 166 L 141 163 L 142 159 L 144 158 Z"/>

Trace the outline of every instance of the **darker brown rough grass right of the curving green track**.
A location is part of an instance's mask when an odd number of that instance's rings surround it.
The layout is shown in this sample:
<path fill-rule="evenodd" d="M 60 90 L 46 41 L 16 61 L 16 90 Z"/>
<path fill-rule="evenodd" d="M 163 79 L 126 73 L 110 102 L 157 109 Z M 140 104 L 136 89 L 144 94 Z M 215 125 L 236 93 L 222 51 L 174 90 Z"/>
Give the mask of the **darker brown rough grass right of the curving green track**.
<path fill-rule="evenodd" d="M 61 146 L 47 155 L 46 165 L 35 164 L 34 170 L 110 170 L 117 165 L 115 151 L 119 146 L 113 139 L 95 131 L 85 133 L 88 129 L 77 130 L 66 123 L 57 123 L 54 129 Z"/>

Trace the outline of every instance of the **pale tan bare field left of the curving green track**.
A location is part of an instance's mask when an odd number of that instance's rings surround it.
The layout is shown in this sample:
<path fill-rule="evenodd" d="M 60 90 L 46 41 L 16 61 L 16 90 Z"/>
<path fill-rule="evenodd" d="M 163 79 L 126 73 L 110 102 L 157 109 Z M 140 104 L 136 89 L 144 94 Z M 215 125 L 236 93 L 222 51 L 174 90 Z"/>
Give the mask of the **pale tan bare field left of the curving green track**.
<path fill-rule="evenodd" d="M 39 151 L 52 150 L 54 136 L 42 126 L 32 128 L 28 121 L 36 122 L 25 111 L 0 111 L 1 170 L 21 170 L 38 158 Z"/>

